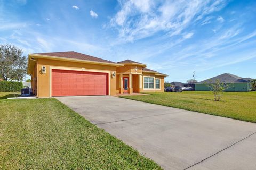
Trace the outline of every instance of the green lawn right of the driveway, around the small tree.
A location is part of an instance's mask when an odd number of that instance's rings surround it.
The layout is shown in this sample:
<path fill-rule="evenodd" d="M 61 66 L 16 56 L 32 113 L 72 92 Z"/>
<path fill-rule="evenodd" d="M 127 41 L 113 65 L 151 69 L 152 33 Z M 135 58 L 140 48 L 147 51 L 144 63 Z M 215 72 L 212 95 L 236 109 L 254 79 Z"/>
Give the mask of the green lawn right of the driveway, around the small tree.
<path fill-rule="evenodd" d="M 214 101 L 210 91 L 156 92 L 122 98 L 256 123 L 256 91 L 225 92 L 221 101 Z"/>

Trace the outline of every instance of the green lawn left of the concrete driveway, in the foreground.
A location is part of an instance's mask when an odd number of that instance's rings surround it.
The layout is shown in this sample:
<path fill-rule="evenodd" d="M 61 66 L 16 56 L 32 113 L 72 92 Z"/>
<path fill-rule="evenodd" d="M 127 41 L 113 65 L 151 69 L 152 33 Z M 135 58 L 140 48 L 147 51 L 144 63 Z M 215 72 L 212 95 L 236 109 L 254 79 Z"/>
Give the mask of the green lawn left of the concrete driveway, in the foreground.
<path fill-rule="evenodd" d="M 56 99 L 0 108 L 0 169 L 161 169 Z"/>

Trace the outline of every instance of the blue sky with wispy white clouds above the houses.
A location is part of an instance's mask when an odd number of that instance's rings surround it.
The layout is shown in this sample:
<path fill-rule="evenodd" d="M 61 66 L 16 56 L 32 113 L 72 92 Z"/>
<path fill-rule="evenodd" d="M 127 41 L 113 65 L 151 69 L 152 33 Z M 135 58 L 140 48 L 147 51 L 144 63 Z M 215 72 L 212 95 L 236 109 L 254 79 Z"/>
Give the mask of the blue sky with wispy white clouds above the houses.
<path fill-rule="evenodd" d="M 0 0 L 0 44 L 147 64 L 166 81 L 256 78 L 256 1 Z"/>

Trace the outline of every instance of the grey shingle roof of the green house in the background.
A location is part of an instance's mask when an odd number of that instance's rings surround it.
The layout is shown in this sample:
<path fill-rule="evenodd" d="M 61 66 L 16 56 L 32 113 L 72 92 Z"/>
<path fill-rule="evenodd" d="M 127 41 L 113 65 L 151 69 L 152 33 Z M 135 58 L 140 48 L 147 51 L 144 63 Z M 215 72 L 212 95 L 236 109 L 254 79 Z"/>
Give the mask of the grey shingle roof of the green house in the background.
<path fill-rule="evenodd" d="M 201 82 L 198 82 L 196 84 L 203 84 L 203 83 L 215 83 L 216 80 L 219 80 L 221 83 L 243 83 L 243 82 L 249 82 L 245 80 L 244 78 L 241 78 L 234 74 L 224 73 L 221 75 L 217 75 L 216 77 L 203 80 Z"/>

